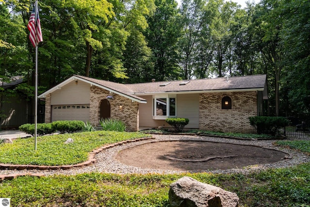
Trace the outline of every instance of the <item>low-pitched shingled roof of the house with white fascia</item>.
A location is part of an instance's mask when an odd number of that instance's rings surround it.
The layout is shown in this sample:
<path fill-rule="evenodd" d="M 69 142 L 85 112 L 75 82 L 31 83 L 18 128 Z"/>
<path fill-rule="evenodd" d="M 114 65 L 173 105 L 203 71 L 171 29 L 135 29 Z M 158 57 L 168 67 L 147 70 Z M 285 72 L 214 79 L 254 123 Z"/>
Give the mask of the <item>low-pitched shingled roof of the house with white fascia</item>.
<path fill-rule="evenodd" d="M 143 95 L 155 95 L 161 93 L 181 94 L 181 93 L 208 93 L 208 92 L 233 92 L 233 91 L 263 91 L 264 99 L 267 99 L 266 75 L 240 76 L 216 79 L 197 80 L 174 80 L 158 81 L 135 84 L 121 84 L 107 80 L 98 80 L 84 76 L 74 75 L 63 81 L 47 92 L 41 94 L 39 98 L 45 97 L 57 89 L 75 79 L 94 84 L 113 93 L 128 97 L 132 100 L 145 102 Z M 140 97 L 142 96 L 142 97 Z"/>

